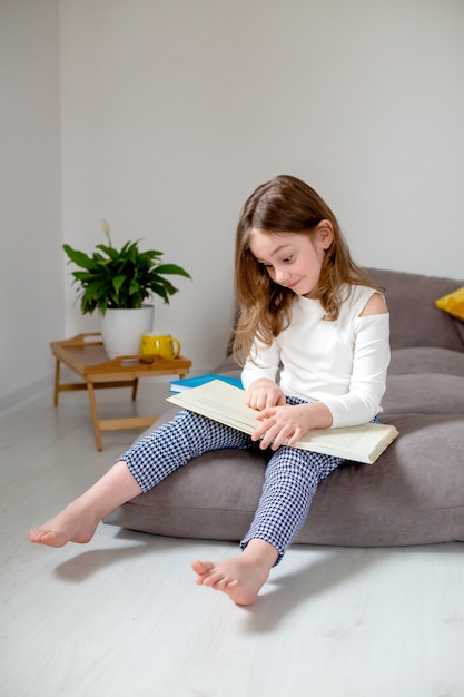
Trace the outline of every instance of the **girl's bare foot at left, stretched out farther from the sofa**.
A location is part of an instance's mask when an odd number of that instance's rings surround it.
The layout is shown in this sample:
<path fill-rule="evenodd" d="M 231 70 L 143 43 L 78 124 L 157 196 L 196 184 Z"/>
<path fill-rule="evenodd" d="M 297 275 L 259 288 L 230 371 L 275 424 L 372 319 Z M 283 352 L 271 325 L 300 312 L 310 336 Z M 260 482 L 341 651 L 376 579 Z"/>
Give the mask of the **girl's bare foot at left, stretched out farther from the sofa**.
<path fill-rule="evenodd" d="M 67 542 L 83 544 L 92 539 L 99 522 L 75 502 L 43 526 L 29 530 L 29 540 L 48 547 L 63 547 Z"/>

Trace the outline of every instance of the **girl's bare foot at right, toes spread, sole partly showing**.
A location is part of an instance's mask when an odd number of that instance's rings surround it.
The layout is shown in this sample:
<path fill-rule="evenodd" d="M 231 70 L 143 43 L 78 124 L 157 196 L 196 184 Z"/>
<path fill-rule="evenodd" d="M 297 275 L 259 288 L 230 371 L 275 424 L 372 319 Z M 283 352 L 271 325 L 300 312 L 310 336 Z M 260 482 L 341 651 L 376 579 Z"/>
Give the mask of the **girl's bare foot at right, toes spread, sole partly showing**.
<path fill-rule="evenodd" d="M 256 543 L 256 544 L 254 544 Z M 233 559 L 223 561 L 192 561 L 196 583 L 221 590 L 236 605 L 253 605 L 277 559 L 277 551 L 264 540 L 251 540 L 248 547 Z"/>

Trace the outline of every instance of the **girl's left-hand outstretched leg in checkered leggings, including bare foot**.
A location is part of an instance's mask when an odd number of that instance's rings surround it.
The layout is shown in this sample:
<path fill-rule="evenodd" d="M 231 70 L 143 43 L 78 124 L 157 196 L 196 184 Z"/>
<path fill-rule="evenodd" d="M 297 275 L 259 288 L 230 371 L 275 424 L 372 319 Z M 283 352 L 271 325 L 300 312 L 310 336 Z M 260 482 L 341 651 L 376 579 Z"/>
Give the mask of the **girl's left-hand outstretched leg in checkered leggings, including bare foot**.
<path fill-rule="evenodd" d="M 102 518 L 207 450 L 246 448 L 249 439 L 191 412 L 137 441 L 106 474 L 61 513 L 29 532 L 31 542 L 62 547 L 88 542 Z"/>

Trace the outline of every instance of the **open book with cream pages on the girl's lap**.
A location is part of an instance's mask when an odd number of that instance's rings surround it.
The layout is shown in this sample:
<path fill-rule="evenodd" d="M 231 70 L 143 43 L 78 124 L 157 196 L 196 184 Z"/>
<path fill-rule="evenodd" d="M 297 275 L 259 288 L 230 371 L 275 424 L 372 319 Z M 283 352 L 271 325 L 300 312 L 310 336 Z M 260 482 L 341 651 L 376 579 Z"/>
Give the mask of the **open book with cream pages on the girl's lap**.
<path fill-rule="evenodd" d="M 244 391 L 218 380 L 175 394 L 168 397 L 168 402 L 249 435 L 260 424 L 256 419 L 256 411 L 245 404 Z M 372 464 L 397 435 L 395 426 L 383 423 L 365 423 L 344 429 L 313 429 L 294 448 Z"/>

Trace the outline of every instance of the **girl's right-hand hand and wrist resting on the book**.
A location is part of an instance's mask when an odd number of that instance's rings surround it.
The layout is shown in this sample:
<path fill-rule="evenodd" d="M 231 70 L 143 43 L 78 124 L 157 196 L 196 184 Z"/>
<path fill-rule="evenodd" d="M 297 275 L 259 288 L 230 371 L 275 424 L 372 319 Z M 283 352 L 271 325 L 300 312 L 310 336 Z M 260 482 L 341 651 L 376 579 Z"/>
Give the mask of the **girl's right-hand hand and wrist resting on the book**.
<path fill-rule="evenodd" d="M 332 413 L 322 402 L 285 404 L 264 409 L 257 419 L 263 424 L 251 435 L 259 441 L 259 448 L 277 450 L 286 443 L 295 445 L 309 429 L 325 429 L 332 425 Z"/>

